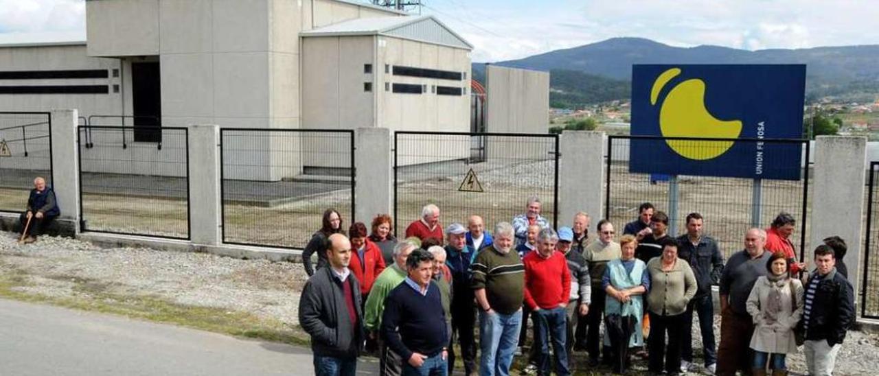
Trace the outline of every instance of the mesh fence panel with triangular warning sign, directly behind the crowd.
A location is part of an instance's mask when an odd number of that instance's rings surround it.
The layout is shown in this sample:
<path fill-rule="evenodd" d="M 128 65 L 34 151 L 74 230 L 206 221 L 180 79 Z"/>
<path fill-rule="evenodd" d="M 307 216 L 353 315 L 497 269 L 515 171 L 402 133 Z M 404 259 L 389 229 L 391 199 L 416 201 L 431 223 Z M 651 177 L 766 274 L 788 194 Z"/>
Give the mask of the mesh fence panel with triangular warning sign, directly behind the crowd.
<path fill-rule="evenodd" d="M 440 222 L 466 226 L 472 214 L 489 230 L 525 213 L 527 199 L 542 202 L 541 216 L 556 226 L 557 134 L 394 134 L 394 221 L 402 236 L 426 204 Z"/>

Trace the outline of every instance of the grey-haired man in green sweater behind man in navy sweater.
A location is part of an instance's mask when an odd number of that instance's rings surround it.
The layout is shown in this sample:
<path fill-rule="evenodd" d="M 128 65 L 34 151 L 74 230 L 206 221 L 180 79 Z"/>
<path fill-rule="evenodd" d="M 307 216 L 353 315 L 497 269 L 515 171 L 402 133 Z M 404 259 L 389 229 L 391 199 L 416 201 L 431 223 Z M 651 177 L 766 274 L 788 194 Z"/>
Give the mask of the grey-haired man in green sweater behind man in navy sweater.
<path fill-rule="evenodd" d="M 375 278 L 372 290 L 369 291 L 367 298 L 364 329 L 367 330 L 370 338 L 378 338 L 378 331 L 381 328 L 381 315 L 384 313 L 384 301 L 388 294 L 403 283 L 408 275 L 406 271 L 406 257 L 417 249 L 415 243 L 408 240 L 396 243 L 394 247 L 394 264 L 381 271 L 378 278 Z M 381 375 L 399 375 L 402 370 L 403 362 L 399 355 L 391 351 L 388 346 L 379 342 L 379 359 Z"/>

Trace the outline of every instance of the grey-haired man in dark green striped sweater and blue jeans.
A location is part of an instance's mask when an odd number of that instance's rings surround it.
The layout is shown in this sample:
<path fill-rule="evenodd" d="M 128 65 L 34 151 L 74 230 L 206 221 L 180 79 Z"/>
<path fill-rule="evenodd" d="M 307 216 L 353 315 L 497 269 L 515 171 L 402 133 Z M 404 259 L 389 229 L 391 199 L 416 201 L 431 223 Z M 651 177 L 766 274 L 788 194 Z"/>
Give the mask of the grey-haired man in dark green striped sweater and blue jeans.
<path fill-rule="evenodd" d="M 512 225 L 498 223 L 494 243 L 479 252 L 470 266 L 479 308 L 479 374 L 483 376 L 509 375 L 512 352 L 519 342 L 525 266 L 512 251 L 514 236 Z"/>

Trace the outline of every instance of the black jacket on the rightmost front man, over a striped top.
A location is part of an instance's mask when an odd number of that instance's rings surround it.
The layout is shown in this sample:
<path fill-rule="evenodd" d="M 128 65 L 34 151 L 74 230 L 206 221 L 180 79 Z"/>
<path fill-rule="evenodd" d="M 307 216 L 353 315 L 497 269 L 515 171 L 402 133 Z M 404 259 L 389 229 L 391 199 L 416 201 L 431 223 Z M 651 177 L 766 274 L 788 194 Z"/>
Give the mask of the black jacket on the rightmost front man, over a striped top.
<path fill-rule="evenodd" d="M 809 313 L 809 321 L 803 319 L 805 338 L 810 341 L 826 339 L 831 346 L 846 339 L 846 330 L 854 324 L 854 288 L 834 268 L 821 277 L 812 272 L 809 282 L 803 286 L 806 293 L 815 278 L 820 278 Z"/>

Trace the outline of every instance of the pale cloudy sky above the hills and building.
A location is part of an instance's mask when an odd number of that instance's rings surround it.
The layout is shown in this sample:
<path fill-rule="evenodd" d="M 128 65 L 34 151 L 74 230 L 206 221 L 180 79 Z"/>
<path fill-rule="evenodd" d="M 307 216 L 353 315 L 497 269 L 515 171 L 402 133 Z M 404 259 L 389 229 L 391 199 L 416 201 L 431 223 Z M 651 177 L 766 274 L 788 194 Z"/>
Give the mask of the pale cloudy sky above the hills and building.
<path fill-rule="evenodd" d="M 476 46 L 474 61 L 613 37 L 750 50 L 879 44 L 875 0 L 423 1 L 425 14 Z M 84 39 L 84 0 L 0 0 L 0 43 Z"/>

